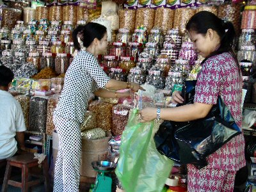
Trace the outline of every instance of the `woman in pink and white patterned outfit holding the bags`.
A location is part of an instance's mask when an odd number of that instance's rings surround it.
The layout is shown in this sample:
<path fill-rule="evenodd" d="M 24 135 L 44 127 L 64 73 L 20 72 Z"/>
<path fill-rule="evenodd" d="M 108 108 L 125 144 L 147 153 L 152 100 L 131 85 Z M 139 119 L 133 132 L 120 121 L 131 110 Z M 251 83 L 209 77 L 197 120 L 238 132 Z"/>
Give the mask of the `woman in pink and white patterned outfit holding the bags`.
<path fill-rule="evenodd" d="M 232 51 L 234 26 L 211 12 L 198 12 L 186 29 L 196 52 L 205 58 L 197 78 L 195 100 L 179 108 L 161 109 L 159 117 L 177 122 L 204 118 L 220 96 L 241 128 L 242 79 Z M 183 101 L 179 92 L 173 93 L 172 102 Z M 143 122 L 157 118 L 156 108 L 145 108 L 140 113 Z M 200 170 L 188 164 L 188 191 L 233 191 L 236 172 L 245 166 L 243 134 L 208 156 L 207 163 Z"/>

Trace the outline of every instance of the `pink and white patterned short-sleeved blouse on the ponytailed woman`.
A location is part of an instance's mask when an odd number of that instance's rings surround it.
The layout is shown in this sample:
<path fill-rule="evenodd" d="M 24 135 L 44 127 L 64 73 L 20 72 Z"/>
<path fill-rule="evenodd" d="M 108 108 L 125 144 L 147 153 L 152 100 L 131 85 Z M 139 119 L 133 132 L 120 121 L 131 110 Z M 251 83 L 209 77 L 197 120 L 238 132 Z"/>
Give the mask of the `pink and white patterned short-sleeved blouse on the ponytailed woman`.
<path fill-rule="evenodd" d="M 242 80 L 236 61 L 228 52 L 212 56 L 202 65 L 194 102 L 216 104 L 218 95 L 230 110 L 234 120 L 242 127 Z M 208 168 L 236 171 L 245 166 L 244 136 L 240 134 L 228 141 L 208 158 Z"/>

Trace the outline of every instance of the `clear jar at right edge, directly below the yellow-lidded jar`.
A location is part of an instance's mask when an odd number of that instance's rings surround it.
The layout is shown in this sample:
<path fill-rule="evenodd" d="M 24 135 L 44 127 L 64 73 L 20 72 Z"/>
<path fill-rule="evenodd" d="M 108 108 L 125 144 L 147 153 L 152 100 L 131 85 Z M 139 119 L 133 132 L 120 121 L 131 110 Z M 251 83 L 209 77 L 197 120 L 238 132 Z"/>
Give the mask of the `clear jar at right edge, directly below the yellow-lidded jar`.
<path fill-rule="evenodd" d="M 255 45 L 256 44 L 256 34 L 254 29 L 243 29 L 241 35 L 239 36 L 238 50 L 241 46 Z"/>

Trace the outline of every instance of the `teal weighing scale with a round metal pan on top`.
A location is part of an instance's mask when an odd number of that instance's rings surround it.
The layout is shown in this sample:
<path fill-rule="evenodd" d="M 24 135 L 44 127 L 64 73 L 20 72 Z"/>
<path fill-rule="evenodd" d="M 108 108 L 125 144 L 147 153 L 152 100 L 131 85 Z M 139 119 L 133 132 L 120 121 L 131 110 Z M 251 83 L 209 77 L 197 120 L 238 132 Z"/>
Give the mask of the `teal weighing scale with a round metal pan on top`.
<path fill-rule="evenodd" d="M 116 163 L 110 161 L 93 161 L 93 170 L 98 172 L 93 192 L 111 192 L 112 179 L 109 172 L 116 168 Z"/>

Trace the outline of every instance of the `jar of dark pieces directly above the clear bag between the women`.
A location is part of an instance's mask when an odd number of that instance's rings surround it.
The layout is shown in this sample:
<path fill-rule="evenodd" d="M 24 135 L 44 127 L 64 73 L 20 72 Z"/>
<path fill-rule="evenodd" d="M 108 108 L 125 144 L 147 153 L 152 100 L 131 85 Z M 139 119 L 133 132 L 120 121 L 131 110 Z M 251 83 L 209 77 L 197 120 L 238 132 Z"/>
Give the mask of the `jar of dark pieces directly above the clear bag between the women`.
<path fill-rule="evenodd" d="M 164 89 L 165 79 L 161 70 L 155 70 L 155 67 L 150 68 L 146 79 L 147 84 L 151 84 L 157 89 Z"/>

